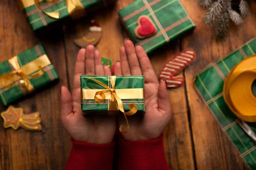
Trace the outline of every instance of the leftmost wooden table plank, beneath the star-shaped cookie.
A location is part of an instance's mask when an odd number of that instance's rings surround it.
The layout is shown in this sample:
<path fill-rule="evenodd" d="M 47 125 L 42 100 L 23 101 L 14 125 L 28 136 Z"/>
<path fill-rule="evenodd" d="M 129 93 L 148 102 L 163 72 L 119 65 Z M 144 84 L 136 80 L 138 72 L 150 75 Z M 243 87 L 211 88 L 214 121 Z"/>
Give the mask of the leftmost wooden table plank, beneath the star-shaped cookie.
<path fill-rule="evenodd" d="M 16 1 L 0 1 L 0 62 L 42 43 L 55 65 L 61 83 L 67 85 L 66 60 L 62 32 L 39 39 L 29 28 L 25 15 Z M 54 84 L 15 102 L 25 113 L 39 111 L 45 133 L 3 128 L 0 118 L 0 169 L 3 170 L 63 170 L 71 147 L 70 136 L 60 122 L 59 84 Z M 6 108 L 0 106 L 0 111 Z M 58 158 L 58 160 L 56 160 Z"/>

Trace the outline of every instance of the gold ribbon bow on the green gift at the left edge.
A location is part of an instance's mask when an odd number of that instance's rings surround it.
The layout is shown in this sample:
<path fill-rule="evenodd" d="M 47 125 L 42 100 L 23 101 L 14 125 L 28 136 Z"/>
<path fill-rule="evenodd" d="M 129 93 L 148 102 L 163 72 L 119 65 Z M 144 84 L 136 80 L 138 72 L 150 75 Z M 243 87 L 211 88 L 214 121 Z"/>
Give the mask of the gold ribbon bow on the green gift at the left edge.
<path fill-rule="evenodd" d="M 8 62 L 10 63 L 12 68 L 14 68 L 14 71 L 7 73 L 7 74 L 0 75 L 0 85 L 4 86 L 6 88 L 12 88 L 12 83 L 15 82 L 15 79 L 13 79 L 13 77 L 15 75 L 17 75 L 18 77 L 20 77 L 20 80 L 18 80 L 18 81 L 20 82 L 22 87 L 26 88 L 26 90 L 28 92 L 32 92 L 34 90 L 34 87 L 30 83 L 30 81 L 27 77 L 28 75 L 26 73 L 24 73 L 24 71 L 20 68 L 17 56 L 10 58 L 8 60 Z M 44 70 L 41 66 L 38 66 L 38 70 L 39 70 L 38 73 L 29 75 L 29 76 L 31 78 L 38 78 L 44 74 Z M 11 81 L 11 83 L 7 82 L 8 80 Z"/>

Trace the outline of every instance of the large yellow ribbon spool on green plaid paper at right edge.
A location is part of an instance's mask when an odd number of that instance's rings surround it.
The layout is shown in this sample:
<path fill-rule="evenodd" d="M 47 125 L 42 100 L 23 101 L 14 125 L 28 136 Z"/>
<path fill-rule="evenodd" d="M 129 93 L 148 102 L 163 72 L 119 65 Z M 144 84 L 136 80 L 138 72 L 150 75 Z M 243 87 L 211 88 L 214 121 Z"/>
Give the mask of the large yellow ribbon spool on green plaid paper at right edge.
<path fill-rule="evenodd" d="M 230 110 L 241 120 L 256 122 L 256 55 L 239 62 L 224 82 L 223 96 Z"/>

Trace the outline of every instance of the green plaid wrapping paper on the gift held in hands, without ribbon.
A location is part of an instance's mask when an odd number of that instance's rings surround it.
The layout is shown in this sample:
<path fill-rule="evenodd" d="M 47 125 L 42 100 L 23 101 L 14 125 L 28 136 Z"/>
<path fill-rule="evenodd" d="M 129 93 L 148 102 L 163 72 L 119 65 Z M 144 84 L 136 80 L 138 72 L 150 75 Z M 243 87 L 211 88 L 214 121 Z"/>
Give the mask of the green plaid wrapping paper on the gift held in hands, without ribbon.
<path fill-rule="evenodd" d="M 99 91 L 106 90 L 104 87 L 94 82 L 91 79 L 96 79 L 108 87 L 111 86 L 110 76 L 88 76 L 81 75 L 81 90 L 82 89 L 99 89 Z M 124 88 L 144 88 L 144 76 L 116 76 L 116 89 Z M 118 93 L 117 93 L 118 95 Z M 138 107 L 136 116 L 143 116 L 145 113 L 144 99 L 122 99 L 123 107 L 125 111 L 129 111 L 128 105 L 134 103 Z M 108 103 L 109 99 L 105 99 L 102 103 L 96 102 L 94 99 L 82 99 L 81 109 L 86 114 L 95 113 L 108 115 Z"/>

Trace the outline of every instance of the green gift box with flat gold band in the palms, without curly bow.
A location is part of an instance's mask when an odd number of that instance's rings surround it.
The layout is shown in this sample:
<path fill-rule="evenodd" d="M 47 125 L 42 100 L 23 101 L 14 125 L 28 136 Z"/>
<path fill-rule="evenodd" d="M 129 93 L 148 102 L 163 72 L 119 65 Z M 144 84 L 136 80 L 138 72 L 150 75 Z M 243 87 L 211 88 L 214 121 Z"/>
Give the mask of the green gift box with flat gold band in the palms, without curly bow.
<path fill-rule="evenodd" d="M 111 92 L 105 93 L 106 98 L 97 102 L 94 97 L 98 91 L 113 89 L 113 77 L 111 76 L 90 76 L 81 75 L 81 110 L 84 114 L 116 115 L 117 109 L 111 109 Z M 98 82 L 103 83 L 103 87 Z M 116 95 L 122 100 L 124 111 L 130 111 L 129 105 L 137 106 L 136 116 L 143 116 L 145 113 L 144 101 L 144 76 L 116 76 L 114 82 Z M 115 104 L 115 103 L 112 103 Z"/>

